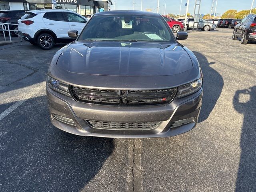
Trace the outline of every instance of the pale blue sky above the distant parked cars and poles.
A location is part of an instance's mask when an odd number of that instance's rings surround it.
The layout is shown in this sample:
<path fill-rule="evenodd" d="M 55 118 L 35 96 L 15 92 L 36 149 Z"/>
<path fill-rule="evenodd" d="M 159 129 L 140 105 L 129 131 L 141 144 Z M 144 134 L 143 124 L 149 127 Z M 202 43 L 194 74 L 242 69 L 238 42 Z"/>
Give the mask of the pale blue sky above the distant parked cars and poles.
<path fill-rule="evenodd" d="M 133 0 L 112 0 L 113 5 L 111 10 L 114 10 L 114 1 L 116 2 L 116 10 L 132 10 L 133 9 Z M 179 14 L 180 12 L 180 2 L 181 0 L 160 0 L 159 3 L 159 13 L 164 14 L 164 3 L 166 2 L 166 14 Z M 187 0 L 182 0 L 181 14 L 185 14 L 186 6 L 185 3 Z M 216 2 L 216 0 L 215 0 Z M 152 9 L 152 12 L 157 11 L 158 0 L 143 0 L 142 10 L 147 8 Z M 194 12 L 195 0 L 190 0 L 189 10 L 191 14 Z M 250 9 L 252 5 L 252 0 L 218 0 L 217 10 L 218 16 L 223 14 L 226 10 L 235 9 L 235 10 L 245 10 Z M 141 0 L 135 0 L 134 9 L 140 10 Z M 201 0 L 200 14 L 210 13 L 212 6 L 212 0 Z M 256 7 L 256 0 L 254 0 L 253 8 Z M 214 10 L 214 9 L 213 9 Z"/>

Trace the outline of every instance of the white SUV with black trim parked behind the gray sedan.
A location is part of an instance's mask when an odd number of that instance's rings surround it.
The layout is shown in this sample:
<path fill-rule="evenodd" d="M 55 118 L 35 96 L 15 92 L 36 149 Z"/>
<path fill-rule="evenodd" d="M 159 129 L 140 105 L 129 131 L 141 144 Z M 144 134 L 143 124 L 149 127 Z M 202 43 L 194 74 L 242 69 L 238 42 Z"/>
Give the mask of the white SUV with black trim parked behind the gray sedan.
<path fill-rule="evenodd" d="M 51 49 L 55 43 L 75 40 L 69 30 L 80 32 L 88 20 L 69 10 L 27 11 L 18 20 L 18 36 L 42 49 Z"/>

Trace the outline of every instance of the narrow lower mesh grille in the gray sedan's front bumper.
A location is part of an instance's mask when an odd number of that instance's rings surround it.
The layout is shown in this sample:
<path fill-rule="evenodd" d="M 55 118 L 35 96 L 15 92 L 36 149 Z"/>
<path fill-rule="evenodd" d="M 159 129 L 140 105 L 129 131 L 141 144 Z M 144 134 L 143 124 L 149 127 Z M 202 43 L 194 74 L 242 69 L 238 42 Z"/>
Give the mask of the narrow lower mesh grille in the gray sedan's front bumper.
<path fill-rule="evenodd" d="M 118 123 L 118 122 L 102 122 L 86 120 L 90 126 L 99 129 L 112 130 L 150 130 L 156 128 L 160 122 L 146 122 L 146 123 Z"/>

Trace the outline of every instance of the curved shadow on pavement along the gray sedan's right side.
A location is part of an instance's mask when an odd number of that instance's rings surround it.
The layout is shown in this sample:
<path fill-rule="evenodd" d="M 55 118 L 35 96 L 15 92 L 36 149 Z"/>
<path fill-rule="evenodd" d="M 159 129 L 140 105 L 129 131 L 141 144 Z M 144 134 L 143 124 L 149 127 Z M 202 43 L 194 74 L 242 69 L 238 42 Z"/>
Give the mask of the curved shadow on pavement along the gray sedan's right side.
<path fill-rule="evenodd" d="M 202 101 L 202 108 L 198 122 L 202 122 L 208 118 L 212 112 L 224 86 L 224 81 L 222 76 L 211 67 L 215 62 L 208 62 L 207 58 L 199 53 L 193 52 L 198 62 L 200 63 L 202 73 L 204 76 L 204 94 Z"/>

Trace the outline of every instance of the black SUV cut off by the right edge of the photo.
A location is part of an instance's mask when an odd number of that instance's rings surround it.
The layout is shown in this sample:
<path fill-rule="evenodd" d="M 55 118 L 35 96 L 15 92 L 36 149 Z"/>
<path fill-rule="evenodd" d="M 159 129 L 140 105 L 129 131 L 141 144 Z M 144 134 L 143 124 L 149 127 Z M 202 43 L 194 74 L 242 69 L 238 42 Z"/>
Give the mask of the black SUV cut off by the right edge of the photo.
<path fill-rule="evenodd" d="M 248 41 L 256 40 L 256 14 L 250 14 L 238 23 L 233 31 L 233 40 L 241 38 L 241 44 L 247 44 Z"/>

